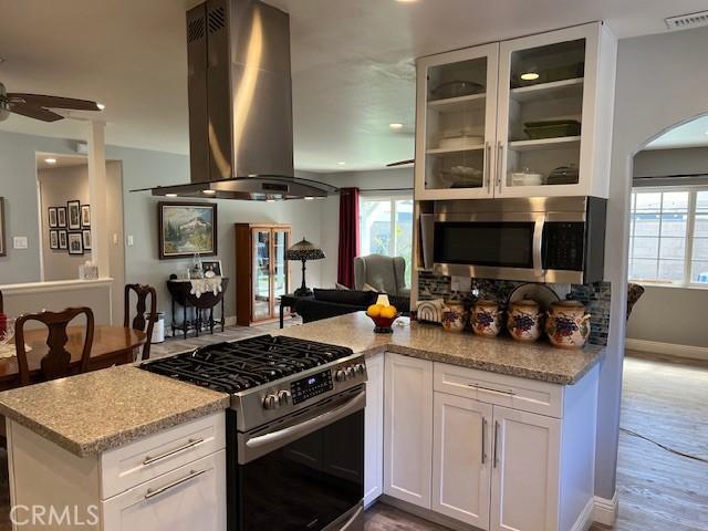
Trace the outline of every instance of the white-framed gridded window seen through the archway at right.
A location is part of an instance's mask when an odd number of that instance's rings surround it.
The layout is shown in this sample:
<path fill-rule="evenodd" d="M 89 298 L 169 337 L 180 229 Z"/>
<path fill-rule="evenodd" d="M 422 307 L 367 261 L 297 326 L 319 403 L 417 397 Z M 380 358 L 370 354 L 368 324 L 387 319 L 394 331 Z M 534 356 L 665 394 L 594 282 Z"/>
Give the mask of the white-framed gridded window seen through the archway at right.
<path fill-rule="evenodd" d="M 708 287 L 708 189 L 632 194 L 629 279 Z"/>

